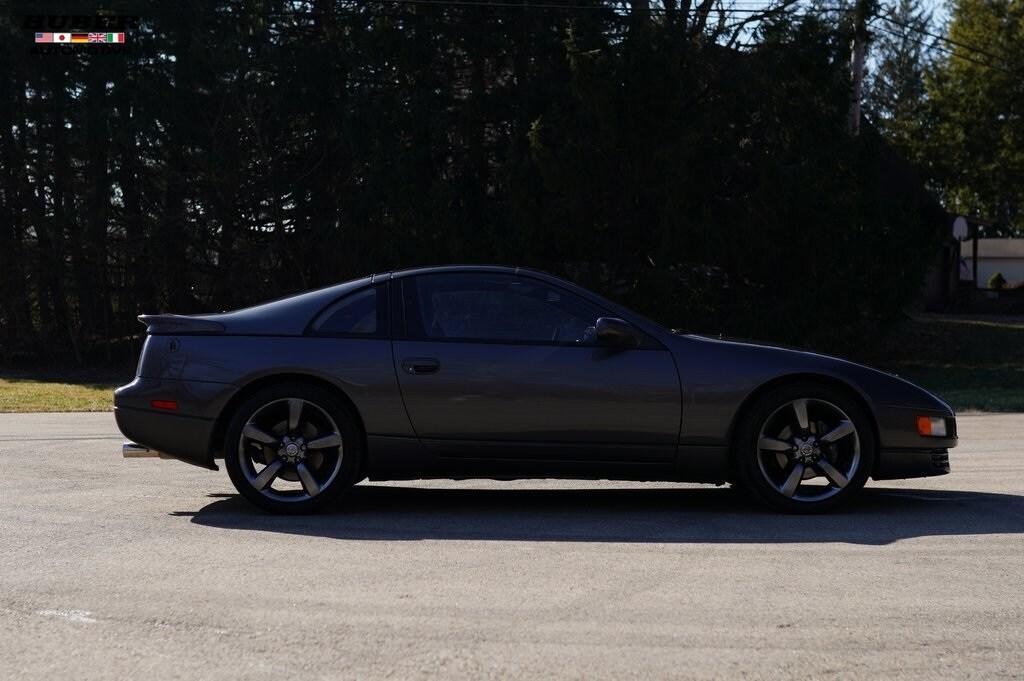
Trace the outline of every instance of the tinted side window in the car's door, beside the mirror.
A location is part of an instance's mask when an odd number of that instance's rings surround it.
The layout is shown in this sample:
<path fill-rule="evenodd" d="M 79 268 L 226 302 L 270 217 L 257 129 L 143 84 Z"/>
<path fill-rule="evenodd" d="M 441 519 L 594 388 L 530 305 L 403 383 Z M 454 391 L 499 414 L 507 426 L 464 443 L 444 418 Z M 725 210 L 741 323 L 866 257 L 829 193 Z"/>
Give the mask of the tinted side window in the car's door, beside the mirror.
<path fill-rule="evenodd" d="M 511 274 L 423 274 L 414 281 L 430 339 L 589 343 L 603 311 L 538 280 Z"/>

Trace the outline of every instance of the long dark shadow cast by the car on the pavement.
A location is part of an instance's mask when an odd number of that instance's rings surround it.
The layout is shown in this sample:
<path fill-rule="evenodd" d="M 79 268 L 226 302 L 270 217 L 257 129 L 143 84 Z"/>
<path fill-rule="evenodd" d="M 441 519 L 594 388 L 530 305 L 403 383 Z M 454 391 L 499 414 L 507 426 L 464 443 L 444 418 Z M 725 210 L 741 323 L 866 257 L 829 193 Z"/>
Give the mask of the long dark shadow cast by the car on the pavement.
<path fill-rule="evenodd" d="M 360 484 L 337 509 L 275 516 L 237 495 L 176 516 L 210 527 L 338 540 L 806 543 L 1024 533 L 1024 497 L 867 487 L 823 515 L 765 511 L 725 487 L 471 490 Z"/>

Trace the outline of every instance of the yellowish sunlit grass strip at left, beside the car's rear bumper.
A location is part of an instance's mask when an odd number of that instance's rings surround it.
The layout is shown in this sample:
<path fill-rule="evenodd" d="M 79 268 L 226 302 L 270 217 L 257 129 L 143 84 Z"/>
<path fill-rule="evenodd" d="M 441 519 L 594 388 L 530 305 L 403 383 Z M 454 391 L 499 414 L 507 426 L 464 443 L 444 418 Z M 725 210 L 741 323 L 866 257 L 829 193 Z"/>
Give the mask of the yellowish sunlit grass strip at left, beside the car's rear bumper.
<path fill-rule="evenodd" d="M 125 374 L 128 376 L 125 376 Z M 0 372 L 0 413 L 109 412 L 131 372 Z"/>

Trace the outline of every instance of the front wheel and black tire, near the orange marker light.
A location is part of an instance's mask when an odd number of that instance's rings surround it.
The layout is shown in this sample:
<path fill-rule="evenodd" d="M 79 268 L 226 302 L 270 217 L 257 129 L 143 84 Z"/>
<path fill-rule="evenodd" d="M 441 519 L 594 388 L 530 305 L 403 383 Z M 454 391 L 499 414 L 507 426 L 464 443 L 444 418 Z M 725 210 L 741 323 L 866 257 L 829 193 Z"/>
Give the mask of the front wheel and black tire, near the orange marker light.
<path fill-rule="evenodd" d="M 791 449 L 781 451 L 780 443 Z M 790 513 L 820 513 L 847 503 L 864 486 L 878 455 L 873 422 L 860 402 L 813 382 L 782 385 L 758 398 L 744 413 L 733 446 L 739 487 Z"/>

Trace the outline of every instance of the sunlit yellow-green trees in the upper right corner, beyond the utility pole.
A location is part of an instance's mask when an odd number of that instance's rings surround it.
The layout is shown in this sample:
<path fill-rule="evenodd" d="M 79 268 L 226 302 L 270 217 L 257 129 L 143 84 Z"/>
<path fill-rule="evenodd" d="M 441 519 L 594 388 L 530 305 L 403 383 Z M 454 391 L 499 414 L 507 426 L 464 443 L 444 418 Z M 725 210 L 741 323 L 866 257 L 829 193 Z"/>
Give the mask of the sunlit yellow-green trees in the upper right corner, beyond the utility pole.
<path fill-rule="evenodd" d="M 984 237 L 1024 231 L 1024 4 L 955 0 L 941 37 L 929 14 L 899 0 L 878 24 L 870 89 L 881 127 L 952 213 Z M 907 28 L 909 27 L 909 28 Z M 936 35 L 938 29 L 931 27 Z M 895 35 L 894 35 L 895 34 Z M 934 49 L 923 48 L 921 43 Z"/>

